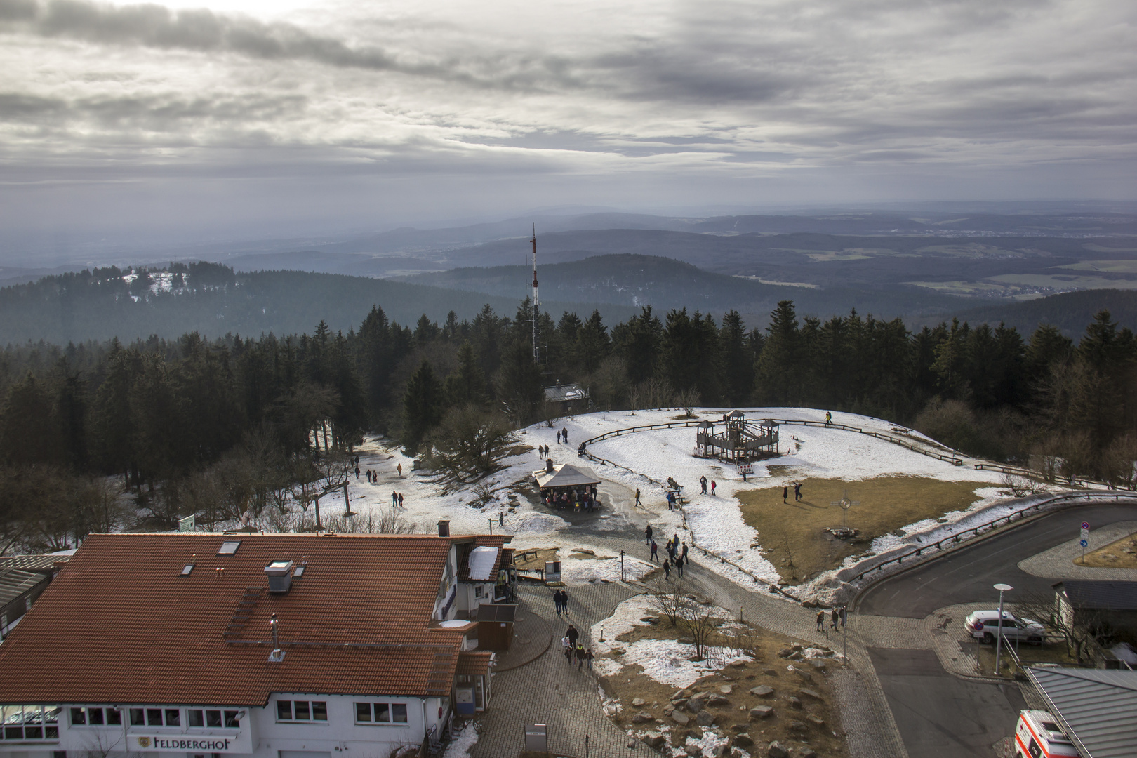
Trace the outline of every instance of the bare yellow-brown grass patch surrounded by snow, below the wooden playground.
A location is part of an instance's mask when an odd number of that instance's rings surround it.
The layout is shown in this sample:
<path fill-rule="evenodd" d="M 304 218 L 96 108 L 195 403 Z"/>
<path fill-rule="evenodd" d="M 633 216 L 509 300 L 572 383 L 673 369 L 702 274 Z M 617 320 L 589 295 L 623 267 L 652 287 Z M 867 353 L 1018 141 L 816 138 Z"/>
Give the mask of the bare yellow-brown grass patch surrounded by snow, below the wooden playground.
<path fill-rule="evenodd" d="M 792 469 L 771 466 L 775 476 Z M 923 476 L 878 476 L 860 482 L 810 478 L 802 483 L 802 500 L 782 502 L 782 488 L 738 493 L 742 518 L 758 532 L 758 544 L 782 581 L 796 584 L 837 568 L 852 555 L 863 552 L 874 538 L 896 532 L 924 518 L 963 510 L 979 500 L 974 491 L 990 486 L 980 482 L 941 482 Z M 843 493 L 857 502 L 847 511 L 832 503 Z M 857 530 L 852 540 L 836 539 L 824 530 Z"/>

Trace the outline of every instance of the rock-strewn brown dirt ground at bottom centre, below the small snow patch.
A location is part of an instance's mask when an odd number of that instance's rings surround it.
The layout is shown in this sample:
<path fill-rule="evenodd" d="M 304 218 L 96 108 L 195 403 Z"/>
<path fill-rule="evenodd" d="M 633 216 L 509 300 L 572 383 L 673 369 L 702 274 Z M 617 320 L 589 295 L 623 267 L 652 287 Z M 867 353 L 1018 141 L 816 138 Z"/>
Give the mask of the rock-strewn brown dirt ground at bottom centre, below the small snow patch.
<path fill-rule="evenodd" d="M 654 624 L 636 626 L 616 639 L 631 643 L 644 639 L 682 638 L 681 627 L 670 626 L 663 616 L 654 618 Z M 606 702 L 619 705 L 613 720 L 621 728 L 637 734 L 658 733 L 663 736 L 657 745 L 661 752 L 684 756 L 682 745 L 687 738 L 698 740 L 703 736 L 697 715 L 686 703 L 692 695 L 707 693 L 725 700 L 705 706 L 705 710 L 714 716 L 712 728 L 731 738 L 731 744 L 750 755 L 765 755 L 765 745 L 778 740 L 790 748 L 791 755 L 811 748 L 820 756 L 846 756 L 836 697 L 828 680 L 829 673 L 840 666 L 840 661 L 818 658 L 819 666 L 815 666 L 812 661 L 800 660 L 805 648 L 803 643 L 765 630 L 748 627 L 746 636 L 747 649 L 755 660 L 729 664 L 721 672 L 704 676 L 684 690 L 645 676 L 639 665 L 626 666 L 612 676 L 598 677 Z M 791 653 L 794 658 L 782 657 L 780 652 Z M 789 670 L 790 665 L 802 670 Z M 752 692 L 754 689 L 758 692 Z M 615 702 L 608 701 L 608 698 L 614 698 Z M 642 703 L 633 705 L 637 701 Z M 765 717 L 752 716 L 750 709 L 756 706 L 770 707 L 772 711 Z M 680 720 L 686 717 L 689 723 L 678 723 L 672 716 L 675 711 L 682 714 Z"/>

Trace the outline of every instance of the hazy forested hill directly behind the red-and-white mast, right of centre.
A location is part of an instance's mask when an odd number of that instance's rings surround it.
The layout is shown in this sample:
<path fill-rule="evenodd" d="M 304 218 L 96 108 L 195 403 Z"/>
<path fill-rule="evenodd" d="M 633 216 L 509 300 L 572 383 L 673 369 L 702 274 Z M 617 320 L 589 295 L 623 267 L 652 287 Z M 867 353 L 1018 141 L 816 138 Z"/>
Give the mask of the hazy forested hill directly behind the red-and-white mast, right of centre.
<path fill-rule="evenodd" d="M 645 255 L 594 256 L 539 268 L 541 297 L 562 302 L 592 301 L 621 306 L 653 306 L 657 311 L 687 308 L 722 314 L 738 310 L 748 326 L 765 325 L 779 300 L 792 300 L 800 315 L 822 318 L 856 308 L 878 317 L 949 314 L 976 302 L 918 288 L 852 289 L 765 284 L 753 278 L 703 270 L 671 258 Z M 521 298 L 526 294 L 524 266 L 455 268 L 420 274 L 407 281 L 455 290 Z M 551 308 L 550 308 L 551 310 Z M 556 313 L 556 311 L 554 311 Z"/>

